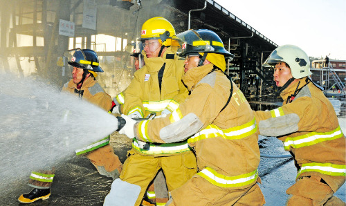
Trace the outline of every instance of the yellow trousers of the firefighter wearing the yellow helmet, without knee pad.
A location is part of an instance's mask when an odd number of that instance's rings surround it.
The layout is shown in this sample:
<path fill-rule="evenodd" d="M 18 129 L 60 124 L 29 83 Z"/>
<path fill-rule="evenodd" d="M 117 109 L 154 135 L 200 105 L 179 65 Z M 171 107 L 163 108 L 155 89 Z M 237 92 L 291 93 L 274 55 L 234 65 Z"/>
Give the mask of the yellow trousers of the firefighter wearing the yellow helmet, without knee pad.
<path fill-rule="evenodd" d="M 192 151 L 175 156 L 143 156 L 131 149 L 122 167 L 120 180 L 140 186 L 140 194 L 135 205 L 140 205 L 149 183 L 161 168 L 165 174 L 168 191 L 172 191 L 197 173 L 196 157 Z"/>

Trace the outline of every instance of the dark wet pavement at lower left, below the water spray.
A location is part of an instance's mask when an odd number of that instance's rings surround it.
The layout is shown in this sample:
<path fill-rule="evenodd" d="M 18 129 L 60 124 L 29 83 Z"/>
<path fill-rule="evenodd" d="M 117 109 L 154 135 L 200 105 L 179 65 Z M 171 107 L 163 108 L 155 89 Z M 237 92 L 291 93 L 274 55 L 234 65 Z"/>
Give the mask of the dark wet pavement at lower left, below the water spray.
<path fill-rule="evenodd" d="M 123 163 L 131 141 L 124 135 L 113 133 L 111 146 Z M 37 200 L 30 205 L 103 205 L 104 197 L 111 189 L 113 180 L 100 176 L 95 167 L 85 157 L 74 156 L 66 162 L 55 165 L 55 177 L 51 187 L 51 196 L 47 200 Z M 10 192 L 3 196 L 0 205 L 28 205 L 19 203 L 17 198 L 32 188 L 26 179 L 11 184 Z"/>

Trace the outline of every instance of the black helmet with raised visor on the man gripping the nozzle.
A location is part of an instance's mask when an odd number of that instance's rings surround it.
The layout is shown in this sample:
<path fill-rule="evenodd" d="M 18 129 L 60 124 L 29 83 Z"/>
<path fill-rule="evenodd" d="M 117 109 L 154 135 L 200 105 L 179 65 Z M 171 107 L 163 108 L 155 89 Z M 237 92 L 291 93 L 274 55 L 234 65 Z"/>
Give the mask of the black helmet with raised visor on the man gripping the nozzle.
<path fill-rule="evenodd" d="M 220 37 L 208 29 L 187 30 L 176 35 L 181 41 L 181 57 L 199 53 L 217 53 L 225 57 L 234 57 L 222 43 Z"/>

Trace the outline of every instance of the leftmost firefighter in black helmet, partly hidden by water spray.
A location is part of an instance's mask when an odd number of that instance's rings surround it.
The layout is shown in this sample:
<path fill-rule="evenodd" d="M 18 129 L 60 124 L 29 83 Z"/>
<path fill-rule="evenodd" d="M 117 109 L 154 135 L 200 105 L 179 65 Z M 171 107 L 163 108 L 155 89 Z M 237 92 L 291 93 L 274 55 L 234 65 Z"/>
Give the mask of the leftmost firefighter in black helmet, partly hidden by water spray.
<path fill-rule="evenodd" d="M 103 88 L 95 80 L 96 72 L 103 72 L 98 63 L 98 56 L 93 50 L 75 49 L 66 53 L 69 57 L 69 64 L 73 66 L 72 77 L 62 88 L 63 92 L 78 95 L 82 100 L 86 100 L 109 111 L 111 109 L 111 96 L 104 92 Z M 109 136 L 98 142 L 75 151 L 77 155 L 86 154 L 86 157 L 104 176 L 117 178 L 122 169 L 122 164 L 114 154 L 109 145 Z M 54 178 L 54 171 L 33 171 L 30 174 L 29 186 L 34 187 L 28 194 L 19 196 L 21 203 L 33 203 L 39 199 L 48 199 L 51 195 L 51 185 Z"/>

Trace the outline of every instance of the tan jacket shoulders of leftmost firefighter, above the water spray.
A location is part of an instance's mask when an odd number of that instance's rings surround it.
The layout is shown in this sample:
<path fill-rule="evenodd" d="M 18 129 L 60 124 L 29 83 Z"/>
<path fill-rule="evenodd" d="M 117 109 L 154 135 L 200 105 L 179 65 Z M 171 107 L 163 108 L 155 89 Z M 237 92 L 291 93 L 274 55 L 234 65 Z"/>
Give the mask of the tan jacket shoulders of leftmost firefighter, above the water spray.
<path fill-rule="evenodd" d="M 77 84 L 73 83 L 73 79 L 71 79 L 70 82 L 66 82 L 62 87 L 62 91 L 78 95 L 78 93 L 75 93 L 75 90 L 79 91 Z M 111 96 L 104 92 L 103 88 L 93 77 L 86 79 L 80 90 L 83 91 L 83 100 L 91 102 L 105 111 L 111 109 Z"/>

